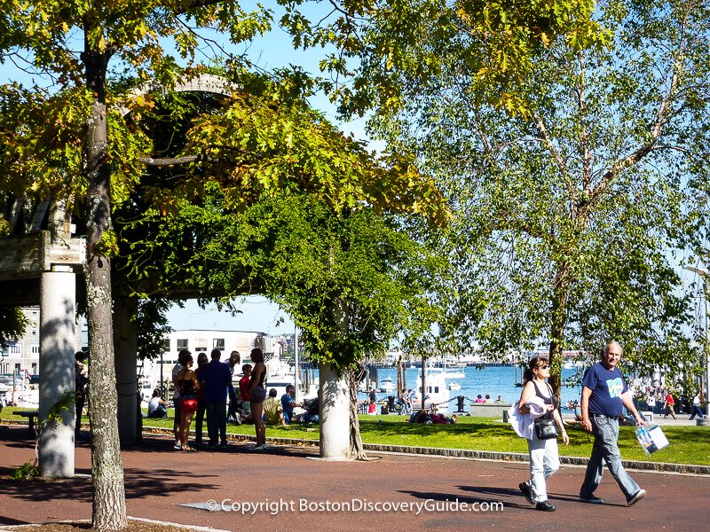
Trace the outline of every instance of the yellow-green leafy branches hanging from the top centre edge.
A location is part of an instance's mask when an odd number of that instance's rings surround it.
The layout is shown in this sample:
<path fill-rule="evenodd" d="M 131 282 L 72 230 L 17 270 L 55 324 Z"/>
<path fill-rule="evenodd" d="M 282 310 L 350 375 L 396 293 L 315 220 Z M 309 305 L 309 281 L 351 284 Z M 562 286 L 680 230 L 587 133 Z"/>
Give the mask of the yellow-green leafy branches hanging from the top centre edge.
<path fill-rule="evenodd" d="M 324 47 L 323 82 L 343 114 L 401 111 L 455 68 L 477 102 L 525 110 L 517 94 L 558 39 L 604 41 L 593 0 L 279 0 L 296 47 Z M 320 6 L 313 14 L 313 4 Z"/>

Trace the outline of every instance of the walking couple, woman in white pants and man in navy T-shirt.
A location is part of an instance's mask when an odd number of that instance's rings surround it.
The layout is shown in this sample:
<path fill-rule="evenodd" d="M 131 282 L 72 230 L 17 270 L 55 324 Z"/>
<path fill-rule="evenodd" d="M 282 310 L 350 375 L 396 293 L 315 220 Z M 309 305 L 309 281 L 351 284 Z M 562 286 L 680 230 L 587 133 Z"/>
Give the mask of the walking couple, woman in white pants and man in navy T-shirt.
<path fill-rule="evenodd" d="M 580 501 L 584 503 L 604 503 L 595 495 L 602 480 L 604 463 L 619 484 L 628 506 L 635 505 L 646 494 L 621 465 L 617 443 L 619 416 L 623 407 L 631 412 L 637 426 L 645 425 L 636 411 L 626 380 L 617 367 L 622 354 L 619 342 L 609 342 L 602 352 L 600 362 L 589 367 L 582 379 L 581 424 L 594 435 L 592 455 L 580 487 Z M 510 409 L 511 425 L 518 435 L 527 439 L 530 452 L 530 479 L 521 482 L 519 488 L 527 501 L 542 512 L 556 510 L 548 500 L 546 487 L 547 479 L 560 466 L 557 434 L 552 435 L 550 425 L 557 427 L 564 445 L 570 441 L 560 416 L 559 405 L 548 385 L 548 377 L 548 359 L 533 356 L 525 370 L 525 387 L 520 400 Z M 544 425 L 548 426 L 543 428 Z"/>

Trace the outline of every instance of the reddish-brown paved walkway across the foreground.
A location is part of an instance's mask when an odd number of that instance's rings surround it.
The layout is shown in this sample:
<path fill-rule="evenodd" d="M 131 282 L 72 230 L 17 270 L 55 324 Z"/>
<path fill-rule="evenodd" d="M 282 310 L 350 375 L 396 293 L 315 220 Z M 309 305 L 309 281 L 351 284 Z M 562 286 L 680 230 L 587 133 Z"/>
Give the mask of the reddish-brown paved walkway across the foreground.
<path fill-rule="evenodd" d="M 557 512 L 535 512 L 517 490 L 527 465 L 461 458 L 384 454 L 372 462 L 326 462 L 317 450 L 274 447 L 258 454 L 248 444 L 226 453 L 181 453 L 169 438 L 146 438 L 123 450 L 130 516 L 187 526 L 260 532 L 360 530 L 678 530 L 702 529 L 710 521 L 710 477 L 633 473 L 648 490 L 627 508 L 606 473 L 597 490 L 606 505 L 584 505 L 574 497 L 584 469 L 564 466 L 549 482 Z M 0 475 L 34 456 L 27 428 L 0 426 Z M 65 481 L 0 481 L 2 525 L 91 519 L 90 449 L 76 449 L 76 473 Z M 185 505 L 261 507 L 208 512 Z M 455 502 L 487 512 L 457 511 Z M 344 504 L 351 511 L 344 510 Z M 369 509 L 362 507 L 369 506 Z M 386 505 L 406 504 L 407 511 Z M 328 505 L 330 507 L 328 507 Z M 340 505 L 340 507 L 338 507 Z M 418 505 L 424 505 L 417 512 Z"/>

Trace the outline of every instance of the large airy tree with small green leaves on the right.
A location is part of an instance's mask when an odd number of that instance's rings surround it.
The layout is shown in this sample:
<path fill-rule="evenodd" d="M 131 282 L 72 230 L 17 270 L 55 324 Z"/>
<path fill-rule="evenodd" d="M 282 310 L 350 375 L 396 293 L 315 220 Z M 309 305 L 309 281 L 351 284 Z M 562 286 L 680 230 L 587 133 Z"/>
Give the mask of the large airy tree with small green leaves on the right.
<path fill-rule="evenodd" d="M 454 206 L 459 332 L 496 357 L 549 342 L 557 392 L 568 348 L 617 339 L 637 371 L 698 360 L 675 269 L 707 237 L 710 12 L 599 7 L 611 43 L 551 43 L 517 83 L 518 113 L 485 105 L 454 54 L 376 121 Z"/>

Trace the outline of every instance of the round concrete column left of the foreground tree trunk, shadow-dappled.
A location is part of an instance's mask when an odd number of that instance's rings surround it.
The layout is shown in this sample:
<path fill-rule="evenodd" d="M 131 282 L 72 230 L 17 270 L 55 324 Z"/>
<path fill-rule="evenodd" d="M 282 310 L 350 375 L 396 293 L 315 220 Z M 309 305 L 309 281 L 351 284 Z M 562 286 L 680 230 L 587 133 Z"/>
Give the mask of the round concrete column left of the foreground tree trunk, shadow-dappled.
<path fill-rule="evenodd" d="M 61 268 L 61 270 L 60 270 Z M 76 278 L 70 268 L 42 274 L 40 286 L 39 423 L 65 392 L 74 392 Z M 45 477 L 74 476 L 74 402 L 61 420 L 39 436 L 39 467 Z"/>

